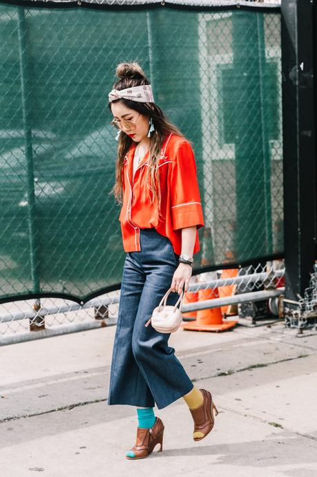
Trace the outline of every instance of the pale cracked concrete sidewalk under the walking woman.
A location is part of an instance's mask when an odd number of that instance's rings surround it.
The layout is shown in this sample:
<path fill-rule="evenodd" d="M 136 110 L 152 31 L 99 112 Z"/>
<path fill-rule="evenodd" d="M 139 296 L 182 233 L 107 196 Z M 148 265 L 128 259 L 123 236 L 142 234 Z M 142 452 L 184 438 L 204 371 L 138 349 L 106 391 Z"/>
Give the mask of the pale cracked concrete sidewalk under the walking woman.
<path fill-rule="evenodd" d="M 115 327 L 0 348 L 2 477 L 317 476 L 317 335 L 282 324 L 180 330 L 170 344 L 220 413 L 192 440 L 184 401 L 160 411 L 164 451 L 132 462 L 131 406 L 108 406 Z"/>

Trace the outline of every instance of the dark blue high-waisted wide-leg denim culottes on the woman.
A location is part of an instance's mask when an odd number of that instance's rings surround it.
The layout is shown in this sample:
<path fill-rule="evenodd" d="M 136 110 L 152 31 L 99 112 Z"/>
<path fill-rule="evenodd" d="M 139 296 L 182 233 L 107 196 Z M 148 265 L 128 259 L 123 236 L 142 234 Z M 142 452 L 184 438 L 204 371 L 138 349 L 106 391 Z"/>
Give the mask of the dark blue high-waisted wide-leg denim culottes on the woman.
<path fill-rule="evenodd" d="M 179 255 L 155 228 L 140 229 L 140 245 L 141 251 L 128 252 L 124 261 L 108 404 L 162 409 L 193 389 L 167 343 L 170 333 L 144 326 L 171 287 Z M 175 305 L 178 298 L 171 292 L 166 304 Z"/>

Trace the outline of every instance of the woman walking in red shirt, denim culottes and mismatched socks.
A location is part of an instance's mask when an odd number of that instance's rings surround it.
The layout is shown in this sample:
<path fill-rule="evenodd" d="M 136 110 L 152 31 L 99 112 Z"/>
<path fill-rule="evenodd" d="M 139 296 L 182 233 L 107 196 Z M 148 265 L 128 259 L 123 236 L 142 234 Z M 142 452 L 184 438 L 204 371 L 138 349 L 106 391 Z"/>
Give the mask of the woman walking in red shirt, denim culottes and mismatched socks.
<path fill-rule="evenodd" d="M 168 305 L 187 291 L 193 254 L 204 226 L 195 158 L 189 141 L 155 104 L 137 63 L 122 63 L 108 95 L 112 124 L 119 129 L 116 183 L 126 259 L 108 404 L 137 407 L 137 439 L 126 458 L 148 456 L 162 440 L 158 409 L 184 397 L 194 421 L 193 439 L 213 429 L 211 393 L 197 389 L 168 345 L 169 334 L 144 325 L 171 288 Z M 217 413 L 217 410 L 215 409 Z"/>

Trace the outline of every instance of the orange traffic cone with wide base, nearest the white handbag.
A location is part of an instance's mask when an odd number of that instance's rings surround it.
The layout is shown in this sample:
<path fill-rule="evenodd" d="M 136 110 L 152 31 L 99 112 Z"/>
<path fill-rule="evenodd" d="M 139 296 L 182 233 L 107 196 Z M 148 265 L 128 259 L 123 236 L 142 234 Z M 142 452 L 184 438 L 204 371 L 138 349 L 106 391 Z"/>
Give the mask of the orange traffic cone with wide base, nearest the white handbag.
<path fill-rule="evenodd" d="M 206 273 L 202 275 L 207 275 Z M 205 288 L 198 291 L 198 301 L 210 300 L 218 298 L 218 288 Z M 223 331 L 232 328 L 237 324 L 237 321 L 222 321 L 222 313 L 220 307 L 208 308 L 206 310 L 197 311 L 197 319 L 190 323 L 182 325 L 184 330 L 193 331 Z"/>

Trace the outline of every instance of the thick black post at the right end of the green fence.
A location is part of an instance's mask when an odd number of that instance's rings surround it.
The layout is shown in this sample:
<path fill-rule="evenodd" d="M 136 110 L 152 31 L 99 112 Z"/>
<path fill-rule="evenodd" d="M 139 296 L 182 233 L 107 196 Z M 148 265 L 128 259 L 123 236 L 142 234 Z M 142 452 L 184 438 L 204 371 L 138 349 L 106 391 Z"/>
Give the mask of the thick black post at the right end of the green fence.
<path fill-rule="evenodd" d="M 304 296 L 316 258 L 314 0 L 282 0 L 285 294 Z"/>

